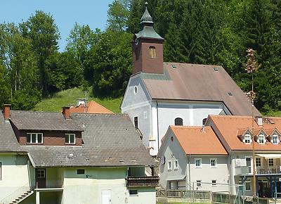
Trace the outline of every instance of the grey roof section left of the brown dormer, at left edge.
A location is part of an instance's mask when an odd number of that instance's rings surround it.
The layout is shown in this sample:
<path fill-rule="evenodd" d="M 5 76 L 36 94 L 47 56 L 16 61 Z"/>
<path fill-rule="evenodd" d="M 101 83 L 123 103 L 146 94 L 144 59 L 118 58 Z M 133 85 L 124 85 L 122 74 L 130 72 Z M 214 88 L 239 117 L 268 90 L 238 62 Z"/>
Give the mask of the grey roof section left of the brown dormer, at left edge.
<path fill-rule="evenodd" d="M 0 112 L 0 152 L 19 151 L 19 148 L 20 145 L 15 138 L 10 122 L 5 121 Z"/>

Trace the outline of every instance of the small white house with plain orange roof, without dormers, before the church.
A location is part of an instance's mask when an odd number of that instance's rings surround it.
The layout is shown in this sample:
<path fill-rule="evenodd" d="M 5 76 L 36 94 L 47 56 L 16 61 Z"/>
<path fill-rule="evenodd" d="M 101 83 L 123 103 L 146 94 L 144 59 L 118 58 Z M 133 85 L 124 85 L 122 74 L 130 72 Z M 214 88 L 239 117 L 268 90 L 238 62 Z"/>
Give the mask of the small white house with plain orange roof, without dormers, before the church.
<path fill-rule="evenodd" d="M 228 153 L 211 127 L 170 126 L 157 155 L 164 189 L 229 191 Z"/>

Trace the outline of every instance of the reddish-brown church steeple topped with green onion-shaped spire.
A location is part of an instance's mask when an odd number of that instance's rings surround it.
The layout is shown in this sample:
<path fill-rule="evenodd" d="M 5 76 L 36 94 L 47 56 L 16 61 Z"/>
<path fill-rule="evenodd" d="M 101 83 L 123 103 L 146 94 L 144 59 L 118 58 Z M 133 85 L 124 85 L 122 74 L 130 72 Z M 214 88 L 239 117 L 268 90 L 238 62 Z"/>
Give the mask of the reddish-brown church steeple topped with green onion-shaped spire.
<path fill-rule="evenodd" d="M 142 30 L 133 37 L 133 74 L 137 72 L 163 73 L 164 38 L 154 30 L 154 22 L 145 2 L 141 17 Z"/>

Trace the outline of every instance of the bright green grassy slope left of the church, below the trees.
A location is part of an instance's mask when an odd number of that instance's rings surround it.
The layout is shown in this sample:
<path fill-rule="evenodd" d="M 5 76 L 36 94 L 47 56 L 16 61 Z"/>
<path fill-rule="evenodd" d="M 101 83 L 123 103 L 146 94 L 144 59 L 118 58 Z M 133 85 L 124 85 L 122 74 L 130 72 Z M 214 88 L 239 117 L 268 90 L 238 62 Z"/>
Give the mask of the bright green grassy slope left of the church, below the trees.
<path fill-rule="evenodd" d="M 81 89 L 67 89 L 55 94 L 52 98 L 47 98 L 37 103 L 33 110 L 60 112 L 63 106 L 76 104 L 77 98 L 85 98 L 85 93 Z M 122 97 L 119 98 L 93 98 L 88 96 L 88 101 L 96 101 L 105 108 L 111 110 L 113 113 L 121 113 L 119 106 L 122 102 Z"/>

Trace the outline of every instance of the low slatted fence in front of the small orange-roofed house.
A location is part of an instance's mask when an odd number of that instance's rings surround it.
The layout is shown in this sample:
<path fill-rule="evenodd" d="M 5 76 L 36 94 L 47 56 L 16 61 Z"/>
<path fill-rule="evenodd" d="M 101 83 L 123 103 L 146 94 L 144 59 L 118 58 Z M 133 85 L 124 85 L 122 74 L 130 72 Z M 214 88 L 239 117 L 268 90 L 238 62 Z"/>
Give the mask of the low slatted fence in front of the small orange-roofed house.
<path fill-rule="evenodd" d="M 156 189 L 156 196 L 162 198 L 195 198 L 209 200 L 211 199 L 211 191 Z"/>

